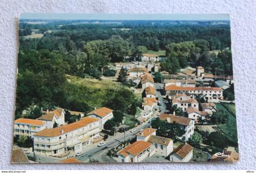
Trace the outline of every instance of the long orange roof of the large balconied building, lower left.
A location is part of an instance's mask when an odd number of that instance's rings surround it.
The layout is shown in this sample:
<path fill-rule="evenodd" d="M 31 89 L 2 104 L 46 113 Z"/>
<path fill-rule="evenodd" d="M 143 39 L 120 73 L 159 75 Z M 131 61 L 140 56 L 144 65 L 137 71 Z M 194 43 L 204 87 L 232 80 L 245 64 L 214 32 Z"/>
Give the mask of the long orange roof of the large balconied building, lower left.
<path fill-rule="evenodd" d="M 60 127 L 55 127 L 53 129 L 44 129 L 43 131 L 37 132 L 34 136 L 38 137 L 57 137 L 62 134 L 66 134 L 67 132 L 74 131 L 76 129 L 80 129 L 81 127 L 87 126 L 95 121 L 98 121 L 97 118 L 85 117 L 76 121 L 74 123 L 65 124 Z"/>

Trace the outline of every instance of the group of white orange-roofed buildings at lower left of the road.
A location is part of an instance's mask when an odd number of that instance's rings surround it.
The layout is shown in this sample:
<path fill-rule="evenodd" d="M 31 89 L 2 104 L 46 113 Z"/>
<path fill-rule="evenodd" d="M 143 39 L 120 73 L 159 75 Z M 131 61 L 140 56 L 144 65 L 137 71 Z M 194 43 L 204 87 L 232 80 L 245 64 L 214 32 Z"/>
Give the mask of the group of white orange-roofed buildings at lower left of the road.
<path fill-rule="evenodd" d="M 86 117 L 83 112 L 71 111 L 71 115 L 80 115 L 81 118 L 66 124 L 65 110 L 59 107 L 47 110 L 37 120 L 19 118 L 14 123 L 14 135 L 31 137 L 35 154 L 59 157 L 75 154 L 103 139 L 100 132 L 104 123 L 113 118 L 113 110 L 101 107 L 89 112 Z M 54 123 L 58 126 L 54 127 Z"/>

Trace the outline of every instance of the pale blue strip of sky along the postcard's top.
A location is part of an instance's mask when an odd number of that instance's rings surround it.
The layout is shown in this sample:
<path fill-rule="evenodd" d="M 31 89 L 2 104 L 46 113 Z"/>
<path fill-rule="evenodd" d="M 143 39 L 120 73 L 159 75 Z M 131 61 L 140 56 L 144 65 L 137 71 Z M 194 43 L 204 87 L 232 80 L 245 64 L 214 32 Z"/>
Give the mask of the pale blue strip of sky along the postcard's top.
<path fill-rule="evenodd" d="M 229 21 L 227 14 L 82 14 L 82 13 L 23 13 L 20 19 L 66 19 L 66 20 L 184 20 Z"/>

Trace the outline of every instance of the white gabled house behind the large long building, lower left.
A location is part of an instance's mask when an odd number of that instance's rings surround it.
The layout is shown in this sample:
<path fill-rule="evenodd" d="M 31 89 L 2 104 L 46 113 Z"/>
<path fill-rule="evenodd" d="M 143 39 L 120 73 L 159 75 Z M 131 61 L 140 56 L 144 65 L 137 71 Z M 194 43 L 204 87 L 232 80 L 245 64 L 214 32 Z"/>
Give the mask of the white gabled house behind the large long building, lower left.
<path fill-rule="evenodd" d="M 54 127 L 54 123 L 57 123 L 58 126 L 65 124 L 65 111 L 59 107 L 52 111 L 47 110 L 46 114 L 37 118 L 37 120 L 45 121 L 46 128 L 51 129 Z"/>

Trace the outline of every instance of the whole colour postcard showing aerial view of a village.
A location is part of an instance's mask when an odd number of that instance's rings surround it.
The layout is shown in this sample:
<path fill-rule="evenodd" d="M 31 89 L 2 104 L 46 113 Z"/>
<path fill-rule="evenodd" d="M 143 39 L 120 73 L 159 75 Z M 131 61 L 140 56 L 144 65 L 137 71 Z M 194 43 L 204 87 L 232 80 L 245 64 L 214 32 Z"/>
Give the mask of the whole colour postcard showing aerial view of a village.
<path fill-rule="evenodd" d="M 239 160 L 229 15 L 24 13 L 12 163 Z"/>

